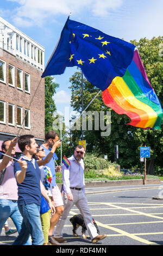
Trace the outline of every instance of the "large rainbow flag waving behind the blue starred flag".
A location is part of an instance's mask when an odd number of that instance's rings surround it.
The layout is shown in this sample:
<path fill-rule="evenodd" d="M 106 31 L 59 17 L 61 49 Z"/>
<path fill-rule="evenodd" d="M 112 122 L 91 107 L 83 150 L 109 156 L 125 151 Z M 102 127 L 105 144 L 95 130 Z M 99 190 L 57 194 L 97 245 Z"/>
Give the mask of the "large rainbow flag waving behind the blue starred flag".
<path fill-rule="evenodd" d="M 162 108 L 149 83 L 137 50 L 124 76 L 116 76 L 102 93 L 106 106 L 131 119 L 129 125 L 143 129 L 160 129 Z"/>

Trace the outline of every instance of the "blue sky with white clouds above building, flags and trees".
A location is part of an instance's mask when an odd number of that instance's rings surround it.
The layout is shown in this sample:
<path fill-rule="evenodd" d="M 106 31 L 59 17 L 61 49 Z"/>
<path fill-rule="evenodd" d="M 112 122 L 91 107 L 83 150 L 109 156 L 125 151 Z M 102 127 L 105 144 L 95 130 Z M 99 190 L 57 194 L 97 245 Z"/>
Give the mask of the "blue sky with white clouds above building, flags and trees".
<path fill-rule="evenodd" d="M 64 24 L 82 22 L 126 41 L 163 35 L 162 0 L 3 0 L 0 16 L 45 47 L 45 66 L 57 44 Z M 54 96 L 57 111 L 65 115 L 70 107 L 69 78 L 77 69 L 67 68 L 54 77 L 59 83 Z"/>

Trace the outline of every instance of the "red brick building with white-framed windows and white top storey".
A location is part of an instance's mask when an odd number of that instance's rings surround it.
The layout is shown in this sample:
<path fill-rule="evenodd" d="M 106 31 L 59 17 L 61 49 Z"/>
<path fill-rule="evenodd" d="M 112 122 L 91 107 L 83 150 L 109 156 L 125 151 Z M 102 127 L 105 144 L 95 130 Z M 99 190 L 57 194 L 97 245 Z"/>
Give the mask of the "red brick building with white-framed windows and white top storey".
<path fill-rule="evenodd" d="M 0 17 L 0 150 L 2 141 L 14 138 L 19 130 L 19 135 L 34 135 L 39 144 L 44 141 L 45 86 L 41 80 L 44 51 Z M 16 150 L 20 151 L 18 147 Z"/>

